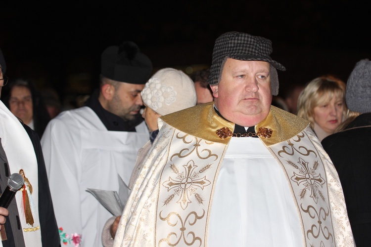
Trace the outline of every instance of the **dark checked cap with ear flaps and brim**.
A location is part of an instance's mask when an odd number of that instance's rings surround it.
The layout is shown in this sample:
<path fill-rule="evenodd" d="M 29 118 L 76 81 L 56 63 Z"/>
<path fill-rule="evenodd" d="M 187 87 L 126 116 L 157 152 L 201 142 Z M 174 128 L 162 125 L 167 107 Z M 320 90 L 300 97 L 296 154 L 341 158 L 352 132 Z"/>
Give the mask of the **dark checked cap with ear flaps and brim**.
<path fill-rule="evenodd" d="M 266 38 L 238 32 L 225 33 L 215 41 L 210 76 L 207 81 L 210 85 L 216 85 L 220 82 L 227 58 L 242 61 L 265 61 L 271 64 L 272 93 L 277 95 L 278 75 L 276 69 L 282 71 L 286 69 L 270 57 L 272 51 L 272 41 Z"/>

